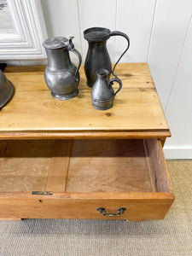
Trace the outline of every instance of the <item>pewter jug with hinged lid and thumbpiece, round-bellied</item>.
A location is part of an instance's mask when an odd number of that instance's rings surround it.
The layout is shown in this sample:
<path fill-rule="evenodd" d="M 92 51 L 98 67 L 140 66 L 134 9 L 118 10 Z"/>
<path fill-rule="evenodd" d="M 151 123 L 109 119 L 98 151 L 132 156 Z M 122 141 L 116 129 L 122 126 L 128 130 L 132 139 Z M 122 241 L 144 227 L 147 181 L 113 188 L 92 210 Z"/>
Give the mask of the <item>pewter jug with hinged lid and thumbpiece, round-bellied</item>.
<path fill-rule="evenodd" d="M 79 93 L 79 67 L 81 55 L 74 49 L 72 38 L 48 38 L 43 45 L 48 56 L 48 66 L 44 72 L 44 79 L 51 90 L 51 95 L 57 100 L 68 100 Z M 79 66 L 71 61 L 69 50 L 79 58 Z"/>

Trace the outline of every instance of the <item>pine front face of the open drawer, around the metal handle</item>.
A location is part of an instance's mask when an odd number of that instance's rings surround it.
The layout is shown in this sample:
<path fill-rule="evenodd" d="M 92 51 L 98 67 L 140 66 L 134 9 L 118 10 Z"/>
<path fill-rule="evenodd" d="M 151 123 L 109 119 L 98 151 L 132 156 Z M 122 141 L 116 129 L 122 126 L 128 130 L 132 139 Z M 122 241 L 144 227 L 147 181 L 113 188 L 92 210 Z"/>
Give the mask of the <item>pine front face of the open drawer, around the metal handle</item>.
<path fill-rule="evenodd" d="M 85 194 L 35 196 L 21 193 L 14 198 L 7 195 L 0 198 L 0 218 L 161 219 L 174 200 L 171 193 L 106 193 L 104 197 L 103 193 Z M 103 215 L 98 207 L 114 216 Z M 118 214 L 120 207 L 125 211 Z"/>

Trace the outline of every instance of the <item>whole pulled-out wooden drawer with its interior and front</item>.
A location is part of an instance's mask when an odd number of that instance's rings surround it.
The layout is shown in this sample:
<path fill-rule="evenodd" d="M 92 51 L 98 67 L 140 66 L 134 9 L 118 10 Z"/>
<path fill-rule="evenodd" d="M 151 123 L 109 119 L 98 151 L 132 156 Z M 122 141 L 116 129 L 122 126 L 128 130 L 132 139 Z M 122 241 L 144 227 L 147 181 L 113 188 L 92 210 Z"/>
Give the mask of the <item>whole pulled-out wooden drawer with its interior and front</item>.
<path fill-rule="evenodd" d="M 2 141 L 0 155 L 0 218 L 161 219 L 174 201 L 157 139 Z"/>

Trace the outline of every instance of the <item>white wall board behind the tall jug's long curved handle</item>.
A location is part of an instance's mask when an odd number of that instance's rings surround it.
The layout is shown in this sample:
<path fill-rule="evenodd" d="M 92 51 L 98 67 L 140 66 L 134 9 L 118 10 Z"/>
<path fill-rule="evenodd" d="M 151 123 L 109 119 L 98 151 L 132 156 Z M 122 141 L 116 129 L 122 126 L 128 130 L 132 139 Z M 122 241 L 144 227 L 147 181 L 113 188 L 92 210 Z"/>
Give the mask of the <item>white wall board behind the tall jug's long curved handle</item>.
<path fill-rule="evenodd" d="M 148 3 L 146 4 L 146 2 Z M 116 29 L 125 32 L 131 39 L 129 52 L 122 58 L 123 62 L 147 61 L 155 3 L 156 0 L 117 1 Z M 125 39 L 117 38 L 115 44 L 116 60 L 125 47 Z"/>

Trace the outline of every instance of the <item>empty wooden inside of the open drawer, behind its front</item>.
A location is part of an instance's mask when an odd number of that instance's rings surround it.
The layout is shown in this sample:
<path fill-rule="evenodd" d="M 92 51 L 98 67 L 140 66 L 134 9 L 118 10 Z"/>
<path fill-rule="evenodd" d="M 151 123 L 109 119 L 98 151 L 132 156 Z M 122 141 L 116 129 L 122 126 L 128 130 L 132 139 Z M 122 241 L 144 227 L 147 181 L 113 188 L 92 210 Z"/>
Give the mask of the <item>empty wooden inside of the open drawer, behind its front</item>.
<path fill-rule="evenodd" d="M 169 192 L 156 139 L 0 142 L 0 192 Z"/>

